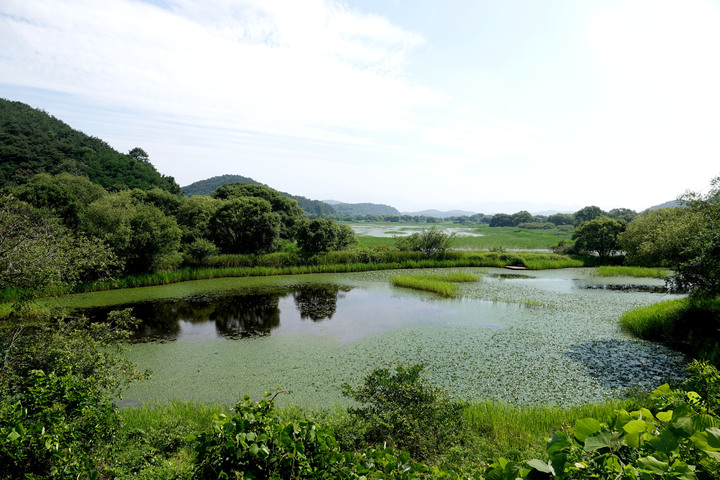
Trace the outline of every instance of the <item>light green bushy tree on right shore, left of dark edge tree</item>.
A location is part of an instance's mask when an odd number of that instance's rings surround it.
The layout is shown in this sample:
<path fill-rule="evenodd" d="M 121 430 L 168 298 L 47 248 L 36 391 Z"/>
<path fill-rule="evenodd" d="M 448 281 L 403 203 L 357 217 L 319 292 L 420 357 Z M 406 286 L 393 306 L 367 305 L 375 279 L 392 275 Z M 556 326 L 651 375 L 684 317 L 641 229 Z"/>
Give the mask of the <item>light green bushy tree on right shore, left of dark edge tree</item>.
<path fill-rule="evenodd" d="M 648 210 L 631 221 L 618 237 L 631 265 L 676 265 L 686 245 L 697 235 L 700 218 L 687 208 Z"/>

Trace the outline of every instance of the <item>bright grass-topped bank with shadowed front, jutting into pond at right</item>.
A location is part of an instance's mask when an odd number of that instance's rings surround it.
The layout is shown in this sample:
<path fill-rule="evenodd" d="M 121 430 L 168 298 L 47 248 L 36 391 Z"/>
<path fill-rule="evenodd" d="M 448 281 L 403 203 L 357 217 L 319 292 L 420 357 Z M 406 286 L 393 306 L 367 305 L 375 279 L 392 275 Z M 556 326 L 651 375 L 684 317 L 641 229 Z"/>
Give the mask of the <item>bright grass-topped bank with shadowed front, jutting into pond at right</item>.
<path fill-rule="evenodd" d="M 681 298 L 637 308 L 623 314 L 620 324 L 638 338 L 662 342 L 720 365 L 720 297 Z"/>

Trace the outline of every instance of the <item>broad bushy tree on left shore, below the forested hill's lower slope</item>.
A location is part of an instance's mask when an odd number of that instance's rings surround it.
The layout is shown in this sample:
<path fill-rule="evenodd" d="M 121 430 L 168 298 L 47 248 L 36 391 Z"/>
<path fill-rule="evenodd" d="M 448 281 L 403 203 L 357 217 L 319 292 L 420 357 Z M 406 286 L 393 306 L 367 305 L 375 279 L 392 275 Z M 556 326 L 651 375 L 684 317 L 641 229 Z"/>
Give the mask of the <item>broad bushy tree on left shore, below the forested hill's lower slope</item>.
<path fill-rule="evenodd" d="M 180 228 L 153 205 L 125 191 L 103 197 L 87 208 L 85 231 L 104 239 L 128 273 L 173 268 L 180 262 Z"/>

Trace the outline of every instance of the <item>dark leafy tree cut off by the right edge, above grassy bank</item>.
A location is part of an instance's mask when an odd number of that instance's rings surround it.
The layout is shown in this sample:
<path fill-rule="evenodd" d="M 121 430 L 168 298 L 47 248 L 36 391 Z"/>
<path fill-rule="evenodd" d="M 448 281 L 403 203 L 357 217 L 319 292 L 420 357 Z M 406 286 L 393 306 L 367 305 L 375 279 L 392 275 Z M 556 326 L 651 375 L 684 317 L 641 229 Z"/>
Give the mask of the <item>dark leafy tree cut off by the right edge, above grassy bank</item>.
<path fill-rule="evenodd" d="M 674 265 L 672 283 L 695 297 L 716 297 L 720 295 L 720 177 L 711 181 L 707 194 L 690 192 L 680 200 L 698 216 L 700 227 Z"/>

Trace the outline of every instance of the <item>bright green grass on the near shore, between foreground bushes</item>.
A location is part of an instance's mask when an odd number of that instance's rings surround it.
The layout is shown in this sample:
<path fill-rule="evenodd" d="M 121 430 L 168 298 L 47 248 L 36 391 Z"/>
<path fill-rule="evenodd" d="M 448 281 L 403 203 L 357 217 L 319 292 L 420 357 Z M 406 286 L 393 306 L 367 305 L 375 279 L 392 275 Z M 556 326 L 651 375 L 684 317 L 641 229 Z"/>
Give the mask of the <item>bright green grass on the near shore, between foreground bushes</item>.
<path fill-rule="evenodd" d="M 462 470 L 488 465 L 500 457 L 515 461 L 542 457 L 546 440 L 554 431 L 585 417 L 609 421 L 621 408 L 630 410 L 635 403 L 608 400 L 569 408 L 519 408 L 495 401 L 471 402 L 462 413 L 467 425 L 463 442 L 434 463 L 442 470 Z M 123 410 L 122 427 L 107 451 L 103 473 L 117 479 L 189 479 L 195 452 L 188 436 L 207 431 L 212 416 L 222 413 L 229 413 L 229 409 L 185 401 Z M 286 421 L 317 423 L 341 442 L 352 436 L 352 420 L 341 409 L 290 407 L 278 413 Z"/>

